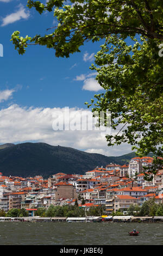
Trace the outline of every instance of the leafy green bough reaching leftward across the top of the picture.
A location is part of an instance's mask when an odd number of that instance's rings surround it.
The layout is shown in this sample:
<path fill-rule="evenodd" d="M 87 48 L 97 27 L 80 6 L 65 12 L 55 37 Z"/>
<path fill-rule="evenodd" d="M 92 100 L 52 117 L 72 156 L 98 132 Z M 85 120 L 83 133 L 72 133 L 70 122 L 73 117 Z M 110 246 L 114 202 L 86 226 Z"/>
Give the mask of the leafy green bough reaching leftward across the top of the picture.
<path fill-rule="evenodd" d="M 44 36 L 20 37 L 20 32 L 12 34 L 12 40 L 20 54 L 29 44 L 46 45 L 54 48 L 57 57 L 69 57 L 79 52 L 79 47 L 87 40 L 99 41 L 111 34 L 121 34 L 123 38 L 141 34 L 150 39 L 163 40 L 161 0 L 49 0 L 46 4 L 28 0 L 28 8 L 34 7 L 42 14 L 53 11 L 58 26 Z"/>

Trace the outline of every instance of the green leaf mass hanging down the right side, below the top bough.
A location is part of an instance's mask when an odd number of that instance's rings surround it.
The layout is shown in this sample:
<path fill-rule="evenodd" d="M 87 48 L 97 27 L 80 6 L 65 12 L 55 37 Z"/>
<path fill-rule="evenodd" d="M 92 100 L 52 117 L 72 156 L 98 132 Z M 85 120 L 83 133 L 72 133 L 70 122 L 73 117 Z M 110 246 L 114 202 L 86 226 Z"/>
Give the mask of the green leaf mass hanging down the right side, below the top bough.
<path fill-rule="evenodd" d="M 121 36 L 113 35 L 101 46 L 91 69 L 97 71 L 96 79 L 105 93 L 96 94 L 96 101 L 87 106 L 93 106 L 93 112 L 111 112 L 112 133 L 106 135 L 109 146 L 129 143 L 140 157 L 154 153 L 149 173 L 155 174 L 162 166 L 158 157 L 163 142 L 163 62 L 154 40 L 141 37 L 140 42 L 135 38 L 133 42 L 128 46 Z"/>

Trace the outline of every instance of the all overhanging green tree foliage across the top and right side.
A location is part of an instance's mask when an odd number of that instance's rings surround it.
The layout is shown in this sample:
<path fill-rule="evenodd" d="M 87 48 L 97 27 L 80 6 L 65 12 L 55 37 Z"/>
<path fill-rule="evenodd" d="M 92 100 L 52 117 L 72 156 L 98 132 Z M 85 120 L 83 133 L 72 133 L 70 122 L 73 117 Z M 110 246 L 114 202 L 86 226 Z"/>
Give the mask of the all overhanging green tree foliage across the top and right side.
<path fill-rule="evenodd" d="M 50 34 L 20 36 L 12 42 L 20 54 L 29 45 L 54 48 L 55 56 L 69 57 L 80 52 L 86 41 L 104 39 L 96 54 L 96 80 L 105 90 L 95 95 L 88 107 L 92 112 L 111 112 L 108 145 L 129 143 L 139 156 L 154 153 L 149 172 L 162 165 L 162 83 L 163 2 L 161 0 L 29 0 L 27 6 L 42 14 L 53 11 L 58 26 Z M 47 31 L 49 31 L 47 29 Z M 131 45 L 127 40 L 132 40 Z M 162 47 L 163 48 L 163 47 Z M 107 121 L 104 121 L 107 125 Z M 116 132 L 115 132 L 116 131 Z M 146 175 L 146 179 L 152 179 Z"/>

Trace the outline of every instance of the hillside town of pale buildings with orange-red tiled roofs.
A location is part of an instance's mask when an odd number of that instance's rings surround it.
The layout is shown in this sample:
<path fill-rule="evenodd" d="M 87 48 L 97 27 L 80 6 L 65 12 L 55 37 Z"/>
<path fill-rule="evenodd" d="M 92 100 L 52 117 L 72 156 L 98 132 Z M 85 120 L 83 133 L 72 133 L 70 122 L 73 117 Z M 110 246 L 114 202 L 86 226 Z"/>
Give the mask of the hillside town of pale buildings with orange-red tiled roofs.
<path fill-rule="evenodd" d="M 48 179 L 39 175 L 8 177 L 0 173 L 1 216 L 12 216 L 10 214 L 15 209 L 22 212 L 20 216 L 23 216 L 23 210 L 28 212 L 28 216 L 39 216 L 39 209 L 45 212 L 52 205 L 76 205 L 84 210 L 84 216 L 93 215 L 91 209 L 101 209 L 97 215 L 101 213 L 105 217 L 125 215 L 127 212 L 133 215 L 136 211 L 140 215 L 145 202 L 153 199 L 153 204 L 159 207 L 163 203 L 163 169 L 153 176 L 152 181 L 144 179 L 143 167 L 148 167 L 152 161 L 152 157 L 134 157 L 123 166 L 110 163 L 105 168 L 96 167 L 84 175 L 59 172 Z M 163 216 L 158 209 L 158 214 L 154 212 L 153 215 Z"/>

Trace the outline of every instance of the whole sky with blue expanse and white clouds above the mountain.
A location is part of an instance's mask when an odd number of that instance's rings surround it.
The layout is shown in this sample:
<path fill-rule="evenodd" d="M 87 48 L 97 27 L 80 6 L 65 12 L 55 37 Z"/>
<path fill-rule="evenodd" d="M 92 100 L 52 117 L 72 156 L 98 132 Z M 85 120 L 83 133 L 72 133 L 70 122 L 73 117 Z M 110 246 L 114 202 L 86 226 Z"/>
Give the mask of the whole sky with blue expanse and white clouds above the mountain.
<path fill-rule="evenodd" d="M 74 127 L 81 113 L 90 116 L 84 102 L 103 90 L 89 67 L 103 41 L 87 42 L 68 59 L 44 46 L 31 46 L 20 56 L 10 42 L 14 31 L 44 35 L 55 24 L 52 13 L 40 15 L 26 3 L 0 0 L 0 144 L 45 142 L 108 156 L 130 153 L 128 144 L 108 147 L 105 130 L 54 129 L 54 121 L 63 122 L 65 107 Z"/>

